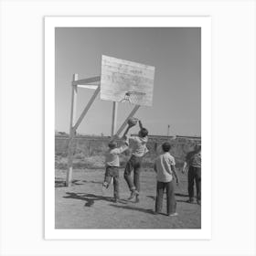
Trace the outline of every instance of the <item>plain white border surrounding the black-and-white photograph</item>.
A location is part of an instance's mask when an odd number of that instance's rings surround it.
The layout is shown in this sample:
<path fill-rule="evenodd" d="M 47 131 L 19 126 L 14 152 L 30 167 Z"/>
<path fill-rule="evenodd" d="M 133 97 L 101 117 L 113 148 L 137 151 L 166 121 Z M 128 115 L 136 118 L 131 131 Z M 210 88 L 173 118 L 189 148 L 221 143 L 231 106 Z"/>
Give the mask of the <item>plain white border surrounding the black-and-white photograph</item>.
<path fill-rule="evenodd" d="M 55 229 L 55 27 L 201 27 L 201 229 Z M 211 239 L 211 18 L 209 16 L 45 17 L 45 239 Z"/>

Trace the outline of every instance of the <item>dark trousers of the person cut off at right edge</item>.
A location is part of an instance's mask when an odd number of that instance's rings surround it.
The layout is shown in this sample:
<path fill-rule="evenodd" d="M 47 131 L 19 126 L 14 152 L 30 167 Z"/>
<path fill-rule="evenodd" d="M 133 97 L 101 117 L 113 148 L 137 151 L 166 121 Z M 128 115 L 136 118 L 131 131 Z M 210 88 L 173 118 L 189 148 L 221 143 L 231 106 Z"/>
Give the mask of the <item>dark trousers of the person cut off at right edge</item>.
<path fill-rule="evenodd" d="M 194 183 L 196 181 L 197 200 L 201 200 L 201 168 L 189 166 L 187 176 L 189 198 L 192 199 L 194 197 Z"/>

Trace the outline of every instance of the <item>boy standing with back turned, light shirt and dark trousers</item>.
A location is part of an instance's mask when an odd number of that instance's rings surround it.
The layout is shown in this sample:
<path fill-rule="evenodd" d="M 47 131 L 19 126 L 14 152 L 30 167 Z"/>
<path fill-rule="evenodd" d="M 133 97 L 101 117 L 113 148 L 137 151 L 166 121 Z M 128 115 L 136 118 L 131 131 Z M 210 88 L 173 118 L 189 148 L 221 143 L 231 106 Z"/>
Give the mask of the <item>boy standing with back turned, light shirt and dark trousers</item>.
<path fill-rule="evenodd" d="M 179 183 L 176 175 L 176 162 L 175 158 L 169 154 L 171 149 L 169 143 L 164 143 L 162 149 L 163 154 L 156 158 L 154 167 L 157 179 L 155 214 L 160 213 L 162 210 L 163 196 L 166 189 L 167 216 L 176 216 L 174 176 L 176 177 L 176 185 Z"/>

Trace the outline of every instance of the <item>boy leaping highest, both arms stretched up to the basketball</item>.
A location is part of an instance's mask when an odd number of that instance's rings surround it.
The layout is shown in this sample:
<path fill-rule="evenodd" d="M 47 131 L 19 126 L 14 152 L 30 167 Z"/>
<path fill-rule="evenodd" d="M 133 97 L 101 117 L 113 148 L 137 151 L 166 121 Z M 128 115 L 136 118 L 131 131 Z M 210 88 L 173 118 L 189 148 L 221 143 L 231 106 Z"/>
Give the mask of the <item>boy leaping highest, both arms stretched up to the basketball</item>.
<path fill-rule="evenodd" d="M 129 129 L 133 125 L 128 124 L 128 128 L 123 133 L 123 138 L 126 138 L 126 134 L 128 133 Z M 132 149 L 132 156 L 127 162 L 124 170 L 124 179 L 127 182 L 127 185 L 131 191 L 131 196 L 128 200 L 133 199 L 136 197 L 135 202 L 139 202 L 139 192 L 140 192 L 140 171 L 143 156 L 148 152 L 146 147 L 146 143 L 148 141 L 148 131 L 143 127 L 142 122 L 139 120 L 140 131 L 137 136 L 129 136 L 128 140 L 133 141 L 133 149 Z M 133 171 L 133 179 L 132 179 L 132 171 Z"/>

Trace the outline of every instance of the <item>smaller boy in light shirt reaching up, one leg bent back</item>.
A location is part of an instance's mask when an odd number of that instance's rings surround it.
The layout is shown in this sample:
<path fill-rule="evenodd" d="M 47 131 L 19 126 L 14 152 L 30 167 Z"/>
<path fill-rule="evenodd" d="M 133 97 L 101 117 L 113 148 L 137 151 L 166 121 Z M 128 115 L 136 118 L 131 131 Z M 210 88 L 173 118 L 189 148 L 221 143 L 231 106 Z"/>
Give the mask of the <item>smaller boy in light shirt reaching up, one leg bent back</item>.
<path fill-rule="evenodd" d="M 122 154 L 125 150 L 128 149 L 128 141 L 125 141 L 125 144 L 121 147 L 117 147 L 117 143 L 115 141 L 111 141 L 109 143 L 109 150 L 105 154 L 105 178 L 102 184 L 102 190 L 107 189 L 113 178 L 113 197 L 114 202 L 117 203 L 120 199 L 119 197 L 119 167 L 120 160 L 119 155 Z"/>

